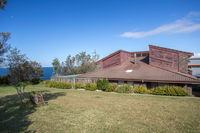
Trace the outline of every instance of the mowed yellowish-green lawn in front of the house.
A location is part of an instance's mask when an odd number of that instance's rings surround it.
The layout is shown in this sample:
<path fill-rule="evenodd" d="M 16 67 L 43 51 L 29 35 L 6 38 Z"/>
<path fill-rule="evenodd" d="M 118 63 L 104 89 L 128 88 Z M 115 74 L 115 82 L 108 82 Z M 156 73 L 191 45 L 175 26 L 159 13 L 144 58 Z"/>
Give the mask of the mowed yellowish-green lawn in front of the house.
<path fill-rule="evenodd" d="M 199 133 L 200 98 L 48 90 L 48 104 L 21 106 L 12 87 L 0 87 L 0 132 Z"/>

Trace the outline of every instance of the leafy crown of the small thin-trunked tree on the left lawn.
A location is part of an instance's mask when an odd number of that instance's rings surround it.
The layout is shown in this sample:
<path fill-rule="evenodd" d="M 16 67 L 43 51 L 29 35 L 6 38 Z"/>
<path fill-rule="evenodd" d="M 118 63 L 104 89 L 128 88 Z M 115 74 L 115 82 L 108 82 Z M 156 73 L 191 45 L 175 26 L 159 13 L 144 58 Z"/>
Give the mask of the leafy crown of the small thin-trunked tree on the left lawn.
<path fill-rule="evenodd" d="M 26 55 L 16 48 L 10 50 L 7 61 L 12 84 L 31 82 L 34 78 L 42 76 L 42 66 L 35 61 L 29 61 Z"/>

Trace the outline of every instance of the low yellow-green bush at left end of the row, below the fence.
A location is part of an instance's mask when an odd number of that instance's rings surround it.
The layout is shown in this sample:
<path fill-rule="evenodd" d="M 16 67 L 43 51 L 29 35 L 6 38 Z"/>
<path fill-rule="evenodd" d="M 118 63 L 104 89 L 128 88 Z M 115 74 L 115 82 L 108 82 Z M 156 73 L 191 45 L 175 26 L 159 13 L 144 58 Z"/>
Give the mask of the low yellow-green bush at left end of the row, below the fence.
<path fill-rule="evenodd" d="M 46 81 L 45 85 L 51 88 L 71 89 L 72 85 L 67 82 Z"/>

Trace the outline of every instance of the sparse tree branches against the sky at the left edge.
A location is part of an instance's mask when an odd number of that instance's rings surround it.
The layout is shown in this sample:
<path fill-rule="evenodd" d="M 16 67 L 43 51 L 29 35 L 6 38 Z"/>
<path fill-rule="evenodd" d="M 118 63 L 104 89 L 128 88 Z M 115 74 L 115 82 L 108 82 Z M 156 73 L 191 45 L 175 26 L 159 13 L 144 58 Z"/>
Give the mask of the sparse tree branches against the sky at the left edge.
<path fill-rule="evenodd" d="M 4 62 L 4 55 L 8 52 L 10 45 L 7 41 L 10 39 L 9 32 L 0 32 L 0 65 Z"/>

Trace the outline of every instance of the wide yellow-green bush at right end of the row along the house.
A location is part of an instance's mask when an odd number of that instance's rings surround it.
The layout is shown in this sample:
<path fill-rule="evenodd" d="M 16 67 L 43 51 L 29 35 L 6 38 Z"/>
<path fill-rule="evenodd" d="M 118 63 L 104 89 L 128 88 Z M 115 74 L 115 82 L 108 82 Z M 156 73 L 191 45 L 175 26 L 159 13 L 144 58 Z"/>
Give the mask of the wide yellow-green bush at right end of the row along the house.
<path fill-rule="evenodd" d="M 180 86 L 163 86 L 152 89 L 154 95 L 188 96 L 188 93 Z"/>

